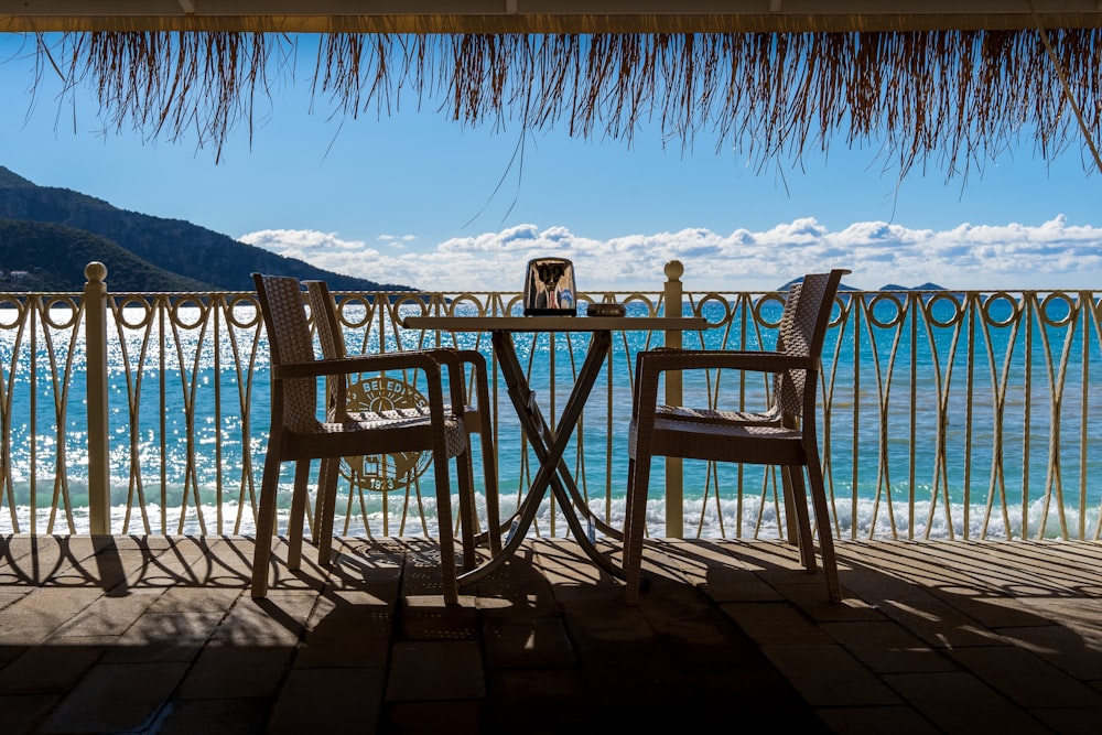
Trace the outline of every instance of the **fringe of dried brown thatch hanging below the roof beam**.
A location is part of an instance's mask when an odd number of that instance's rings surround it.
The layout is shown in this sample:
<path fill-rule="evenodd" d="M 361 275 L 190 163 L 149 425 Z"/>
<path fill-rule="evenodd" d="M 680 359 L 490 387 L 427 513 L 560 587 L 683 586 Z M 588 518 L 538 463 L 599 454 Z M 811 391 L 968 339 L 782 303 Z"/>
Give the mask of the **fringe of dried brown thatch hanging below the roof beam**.
<path fill-rule="evenodd" d="M 220 151 L 251 133 L 294 37 L 93 32 L 40 36 L 67 85 L 88 84 L 117 129 L 197 137 Z M 1051 159 L 1096 150 L 1102 30 L 836 33 L 422 34 L 321 36 L 313 89 L 335 114 L 389 112 L 401 95 L 467 125 L 565 125 L 630 144 L 644 122 L 692 145 L 707 137 L 757 164 L 838 141 L 889 152 L 900 174 L 947 176 L 1031 137 Z M 1084 156 L 1089 170 L 1096 154 Z"/>

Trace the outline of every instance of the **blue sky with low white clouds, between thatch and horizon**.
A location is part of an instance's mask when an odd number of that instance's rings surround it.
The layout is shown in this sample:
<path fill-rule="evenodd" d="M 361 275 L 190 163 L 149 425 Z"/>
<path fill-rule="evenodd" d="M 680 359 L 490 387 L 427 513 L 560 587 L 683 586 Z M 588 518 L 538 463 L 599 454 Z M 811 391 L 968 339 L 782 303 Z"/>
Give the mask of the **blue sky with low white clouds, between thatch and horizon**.
<path fill-rule="evenodd" d="M 425 289 L 519 290 L 530 257 L 575 261 L 584 290 L 656 290 L 662 264 L 690 290 L 776 288 L 806 271 L 846 282 L 952 289 L 1102 283 L 1102 173 L 1074 148 L 1051 163 L 1033 141 L 965 180 L 916 169 L 903 182 L 875 147 L 832 144 L 758 170 L 701 134 L 665 147 L 657 126 L 624 141 L 523 138 L 415 109 L 335 119 L 299 80 L 216 162 L 194 139 L 104 132 L 94 101 L 60 102 L 0 34 L 0 165 L 134 212 L 186 219 L 323 268 Z"/>

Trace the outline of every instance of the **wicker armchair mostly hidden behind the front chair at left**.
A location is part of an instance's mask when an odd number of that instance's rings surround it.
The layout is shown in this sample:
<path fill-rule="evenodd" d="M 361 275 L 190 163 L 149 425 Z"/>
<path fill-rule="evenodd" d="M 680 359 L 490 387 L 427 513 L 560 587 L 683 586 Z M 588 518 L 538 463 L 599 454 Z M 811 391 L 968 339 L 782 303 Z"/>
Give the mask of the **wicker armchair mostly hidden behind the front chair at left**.
<path fill-rule="evenodd" d="M 345 359 L 347 349 L 341 332 L 341 323 L 337 318 L 336 304 L 329 293 L 328 284 L 325 281 L 303 281 L 310 299 L 310 313 L 314 320 L 314 329 L 317 333 L 317 341 L 322 346 L 322 357 L 324 359 Z M 467 446 L 473 447 L 472 434 L 478 435 L 482 447 L 483 477 L 486 490 L 486 520 L 487 531 L 483 534 L 477 532 L 477 515 L 475 511 L 474 496 L 463 495 L 460 498 L 460 518 L 463 528 L 463 566 L 464 570 L 474 568 L 476 552 L 475 541 L 485 539 L 489 542 L 491 554 L 501 550 L 501 528 L 498 511 L 497 495 L 497 468 L 494 453 L 494 431 L 490 424 L 489 388 L 486 376 L 486 358 L 476 350 L 457 349 L 434 349 L 428 350 L 437 363 L 445 364 L 447 374 L 463 375 L 464 389 L 468 385 L 466 369 L 469 367 L 469 385 L 474 388 L 477 403 L 465 401 L 463 403 L 463 426 L 467 432 Z M 451 386 L 450 386 L 451 387 Z M 347 380 L 345 376 L 329 376 L 326 379 L 327 399 L 327 421 L 343 422 L 349 418 L 353 420 L 364 420 L 363 413 L 347 411 Z M 486 408 L 483 408 L 486 407 Z M 444 412 L 452 413 L 452 407 L 444 404 Z M 370 417 L 367 417 L 370 419 Z M 462 473 L 469 472 L 469 453 L 464 453 L 456 457 Z M 336 500 L 336 468 L 339 460 L 322 460 L 322 471 L 318 475 L 317 502 L 314 517 L 324 518 L 326 523 L 332 523 L 333 504 Z M 328 508 L 328 509 L 326 509 Z M 318 547 L 318 554 L 326 554 L 329 550 L 329 536 L 321 533 L 321 523 L 314 525 L 314 543 Z M 468 530 L 469 529 L 469 530 Z M 332 530 L 332 529 L 327 529 Z"/>

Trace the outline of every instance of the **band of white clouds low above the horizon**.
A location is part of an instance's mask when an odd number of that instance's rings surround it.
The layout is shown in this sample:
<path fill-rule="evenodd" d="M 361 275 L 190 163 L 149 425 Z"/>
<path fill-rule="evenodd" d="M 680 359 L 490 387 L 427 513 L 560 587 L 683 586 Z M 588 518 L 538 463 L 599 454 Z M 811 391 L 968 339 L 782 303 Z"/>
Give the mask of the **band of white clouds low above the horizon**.
<path fill-rule="evenodd" d="M 594 239 L 566 227 L 521 224 L 453 238 L 426 252 L 403 247 L 412 236 L 378 238 L 386 251 L 336 233 L 262 230 L 242 241 L 320 268 L 430 291 L 519 291 L 531 258 L 574 261 L 582 291 L 657 291 L 670 260 L 684 264 L 691 291 L 775 289 L 806 272 L 847 268 L 864 289 L 934 282 L 950 289 L 1081 289 L 1102 281 L 1102 228 L 1056 217 L 1040 226 L 962 224 L 908 229 L 883 221 L 830 231 L 797 219 L 765 231 L 707 229 Z"/>

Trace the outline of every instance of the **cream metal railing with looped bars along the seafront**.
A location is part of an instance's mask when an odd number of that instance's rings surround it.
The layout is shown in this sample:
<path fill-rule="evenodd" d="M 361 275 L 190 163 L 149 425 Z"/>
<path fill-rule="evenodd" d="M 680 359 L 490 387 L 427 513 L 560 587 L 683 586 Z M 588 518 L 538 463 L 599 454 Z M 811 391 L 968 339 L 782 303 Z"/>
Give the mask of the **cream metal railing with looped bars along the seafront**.
<path fill-rule="evenodd" d="M 0 294 L 0 532 L 250 532 L 269 400 L 255 294 L 109 293 L 100 270 L 87 273 L 84 294 Z M 616 301 L 645 315 L 681 301 L 683 312 L 714 325 L 678 335 L 688 347 L 773 344 L 784 294 L 682 294 L 677 270 L 668 275 L 652 293 L 581 294 L 580 303 Z M 350 352 L 454 344 L 493 361 L 488 335 L 411 332 L 401 320 L 426 311 L 509 313 L 520 294 L 336 299 Z M 840 293 L 820 413 L 835 536 L 1099 539 L 1100 309 L 1090 291 Z M 634 356 L 665 338 L 614 336 L 569 450 L 580 488 L 613 526 L 623 519 Z M 518 339 L 552 417 L 584 339 Z M 491 409 L 508 511 L 531 479 L 533 457 L 499 380 L 495 366 Z M 680 390 L 694 403 L 752 408 L 766 400 L 768 385 L 687 374 Z M 431 467 L 408 475 L 408 485 L 371 486 L 358 472 L 342 483 L 338 532 L 433 532 L 431 507 L 420 505 Z M 652 533 L 784 533 L 774 472 L 689 461 L 667 472 L 668 494 L 657 487 L 661 474 L 653 480 Z M 536 531 L 566 532 L 550 504 Z"/>

